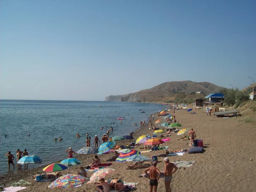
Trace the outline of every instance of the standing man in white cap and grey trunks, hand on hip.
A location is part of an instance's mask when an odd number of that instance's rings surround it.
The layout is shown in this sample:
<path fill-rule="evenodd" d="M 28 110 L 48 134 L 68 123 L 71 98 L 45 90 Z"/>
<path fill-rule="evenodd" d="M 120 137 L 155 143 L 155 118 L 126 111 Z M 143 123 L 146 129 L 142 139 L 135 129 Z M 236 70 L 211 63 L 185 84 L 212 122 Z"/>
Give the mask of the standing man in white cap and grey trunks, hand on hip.
<path fill-rule="evenodd" d="M 171 181 L 172 181 L 172 174 L 177 171 L 177 166 L 175 164 L 169 162 L 169 158 L 166 157 L 163 160 L 166 163 L 165 169 L 164 169 L 164 184 L 166 187 L 166 192 L 172 192 L 171 190 Z M 173 171 L 173 169 L 175 169 Z"/>

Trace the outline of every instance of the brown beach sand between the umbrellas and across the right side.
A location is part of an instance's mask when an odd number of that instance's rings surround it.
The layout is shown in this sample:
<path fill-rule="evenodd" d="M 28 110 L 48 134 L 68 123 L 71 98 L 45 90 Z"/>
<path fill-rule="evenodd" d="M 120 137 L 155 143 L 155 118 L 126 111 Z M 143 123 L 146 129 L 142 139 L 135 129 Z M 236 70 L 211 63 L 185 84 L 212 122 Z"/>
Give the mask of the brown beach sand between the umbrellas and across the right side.
<path fill-rule="evenodd" d="M 163 116 L 154 115 L 155 122 L 157 119 L 162 119 L 156 127 L 165 122 Z M 173 174 L 171 183 L 172 192 L 253 192 L 256 191 L 256 127 L 253 124 L 245 124 L 240 122 L 239 119 L 223 119 L 215 116 L 206 116 L 203 111 L 197 111 L 197 114 L 189 114 L 186 111 L 175 111 L 177 120 L 183 126 L 182 128 L 193 128 L 197 138 L 204 142 L 204 153 L 201 154 L 184 154 L 183 156 L 169 156 L 170 161 L 189 160 L 195 161 L 192 167 L 186 169 L 178 169 Z M 137 122 L 139 125 L 139 122 Z M 154 125 L 154 123 L 153 123 Z M 132 122 L 131 122 L 132 126 Z M 163 128 L 166 131 L 166 128 Z M 148 125 L 140 128 L 134 133 L 134 138 L 137 139 L 143 134 L 152 135 L 153 131 L 148 130 Z M 161 146 L 170 146 L 170 150 L 189 149 L 189 140 L 180 140 L 180 137 L 188 135 L 188 131 L 177 136 L 177 133 L 171 134 L 170 140 Z M 75 136 L 74 136 L 75 137 Z M 116 144 L 128 144 L 128 140 L 116 142 Z M 70 145 L 72 146 L 72 144 Z M 82 147 L 82 146 L 81 146 Z M 138 151 L 144 151 L 143 145 L 135 148 Z M 158 156 L 161 161 L 157 164 L 160 171 L 164 170 L 163 159 L 166 157 L 166 150 L 151 151 L 143 153 L 143 155 L 151 158 L 153 155 Z M 53 154 L 54 155 L 54 154 Z M 109 154 L 99 155 L 102 163 L 114 155 L 113 152 Z M 81 160 L 82 166 L 87 166 L 91 163 L 94 155 L 78 155 L 76 158 Z M 251 160 L 250 160 L 251 159 Z M 116 171 L 106 177 L 119 178 L 125 182 L 139 183 L 136 188 L 137 192 L 149 191 L 149 180 L 145 177 L 137 177 L 136 170 L 127 170 L 128 165 L 134 162 L 112 162 L 113 165 L 109 168 L 116 169 Z M 7 163 L 6 163 L 7 166 Z M 30 175 L 43 173 L 43 167 L 38 167 L 32 170 L 25 170 L 17 172 L 12 175 L 3 175 L 0 177 L 0 184 L 10 186 L 11 182 L 16 182 L 24 179 L 32 183 L 27 189 L 22 192 L 44 192 L 44 191 L 72 191 L 81 192 L 85 189 L 87 192 L 95 192 L 95 185 L 83 184 L 78 188 L 67 189 L 49 189 L 47 183 L 38 183 L 30 178 Z M 67 173 L 77 174 L 79 166 L 73 166 L 72 169 L 62 171 L 62 175 Z M 139 173 L 143 174 L 144 169 L 139 169 Z M 92 175 L 92 173 L 88 173 Z M 158 184 L 159 192 L 165 192 L 164 178 L 160 178 Z"/>

